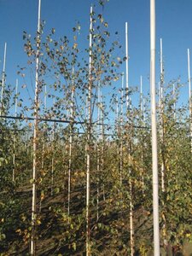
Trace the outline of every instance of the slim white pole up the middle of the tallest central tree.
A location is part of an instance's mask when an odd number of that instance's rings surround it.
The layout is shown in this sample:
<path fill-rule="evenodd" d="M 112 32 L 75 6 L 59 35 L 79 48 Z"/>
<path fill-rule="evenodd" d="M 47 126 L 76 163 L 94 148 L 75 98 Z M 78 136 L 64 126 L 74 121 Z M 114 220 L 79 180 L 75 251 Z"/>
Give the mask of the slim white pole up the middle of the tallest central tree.
<path fill-rule="evenodd" d="M 87 144 L 86 144 L 86 256 L 90 256 L 90 136 L 91 136 L 91 90 L 92 90 L 92 14 L 93 8 L 90 7 L 90 58 L 89 58 L 89 85 L 88 85 L 88 127 L 87 127 Z"/>

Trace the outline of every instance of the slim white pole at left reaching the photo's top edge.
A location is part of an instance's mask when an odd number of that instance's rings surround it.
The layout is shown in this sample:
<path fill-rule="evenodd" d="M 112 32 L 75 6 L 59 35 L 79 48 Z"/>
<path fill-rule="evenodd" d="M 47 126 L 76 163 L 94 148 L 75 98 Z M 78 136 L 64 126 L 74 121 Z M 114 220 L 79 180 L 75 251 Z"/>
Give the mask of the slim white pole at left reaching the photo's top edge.
<path fill-rule="evenodd" d="M 40 33 L 41 0 L 38 0 L 38 37 Z M 37 218 L 37 132 L 38 132 L 38 68 L 39 68 L 39 40 L 37 42 L 36 72 L 35 72 L 35 106 L 34 106 L 34 131 L 33 131 L 33 161 L 32 161 L 32 236 L 31 255 L 36 254 L 36 218 Z"/>

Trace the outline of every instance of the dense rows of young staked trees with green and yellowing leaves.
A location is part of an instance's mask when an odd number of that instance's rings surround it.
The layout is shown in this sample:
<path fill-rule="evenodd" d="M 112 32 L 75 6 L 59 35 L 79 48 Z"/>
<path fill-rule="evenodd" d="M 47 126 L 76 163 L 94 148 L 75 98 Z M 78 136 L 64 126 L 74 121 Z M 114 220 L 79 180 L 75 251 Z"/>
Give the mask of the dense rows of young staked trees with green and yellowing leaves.
<path fill-rule="evenodd" d="M 19 71 L 35 101 L 12 97 L 5 84 L 1 106 L 1 253 L 146 255 L 153 248 L 150 117 L 142 90 L 139 106 L 131 105 L 127 73 L 124 88 L 119 65 L 128 52 L 119 56 L 108 23 L 92 9 L 86 55 L 79 24 L 72 41 L 56 40 L 55 29 L 44 36 L 38 17 L 36 38 L 24 32 L 28 67 Z M 160 247 L 176 253 L 191 239 L 188 108 L 176 108 L 177 81 L 160 79 Z M 113 93 L 105 97 L 107 86 Z M 20 113 L 9 119 L 15 100 Z"/>

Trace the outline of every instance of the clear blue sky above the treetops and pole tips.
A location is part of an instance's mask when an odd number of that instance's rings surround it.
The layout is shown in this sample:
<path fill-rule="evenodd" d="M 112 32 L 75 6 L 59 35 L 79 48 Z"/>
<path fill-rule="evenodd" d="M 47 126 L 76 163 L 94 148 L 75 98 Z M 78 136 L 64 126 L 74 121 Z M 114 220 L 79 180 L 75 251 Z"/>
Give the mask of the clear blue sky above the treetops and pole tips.
<path fill-rule="evenodd" d="M 149 0 L 110 0 L 104 7 L 109 31 L 119 32 L 125 47 L 125 21 L 129 24 L 130 85 L 139 84 L 143 75 L 143 91 L 149 90 Z M 42 0 L 42 20 L 46 29 L 55 27 L 58 36 L 67 35 L 81 24 L 81 38 L 89 29 L 90 4 L 96 0 Z M 100 8 L 96 11 L 99 12 Z M 163 38 L 166 82 L 181 76 L 187 82 L 187 48 L 192 51 L 192 1 L 156 0 L 156 61 L 159 72 L 160 38 Z M 34 34 L 37 29 L 38 0 L 0 0 L 0 70 L 3 69 L 4 42 L 8 44 L 7 82 L 15 84 L 17 65 L 26 65 L 22 32 Z M 88 41 L 84 41 L 87 42 Z M 84 46 L 86 48 L 86 45 Z M 192 52 L 191 52 L 192 63 Z M 157 81 L 159 73 L 157 73 Z M 119 84 L 120 86 L 120 84 Z M 188 88 L 181 90 L 181 102 L 187 102 Z"/>

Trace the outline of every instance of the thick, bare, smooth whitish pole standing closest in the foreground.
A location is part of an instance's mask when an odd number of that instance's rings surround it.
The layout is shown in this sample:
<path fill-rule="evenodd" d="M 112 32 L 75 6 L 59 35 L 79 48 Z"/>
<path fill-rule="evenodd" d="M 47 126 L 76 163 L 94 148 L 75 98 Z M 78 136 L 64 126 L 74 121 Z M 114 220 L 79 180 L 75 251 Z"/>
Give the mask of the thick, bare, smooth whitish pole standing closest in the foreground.
<path fill-rule="evenodd" d="M 154 256 L 159 256 L 160 255 L 159 184 L 158 184 L 157 128 L 156 128 L 156 105 L 155 105 L 155 0 L 150 0 L 150 88 L 151 88 L 152 161 L 153 161 Z"/>

